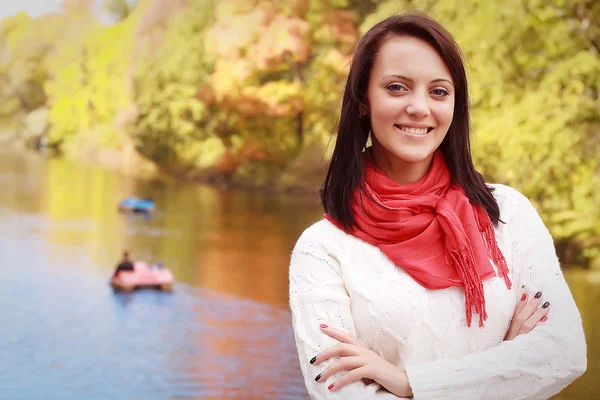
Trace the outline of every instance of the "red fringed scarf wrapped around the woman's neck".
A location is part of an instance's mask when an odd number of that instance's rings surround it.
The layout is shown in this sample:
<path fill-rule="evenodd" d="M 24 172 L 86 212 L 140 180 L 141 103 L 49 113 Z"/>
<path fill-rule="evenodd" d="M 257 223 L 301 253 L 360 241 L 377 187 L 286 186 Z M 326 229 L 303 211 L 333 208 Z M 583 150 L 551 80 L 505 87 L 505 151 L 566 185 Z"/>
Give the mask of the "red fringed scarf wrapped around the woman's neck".
<path fill-rule="evenodd" d="M 451 184 L 440 151 L 427 174 L 408 185 L 397 184 L 368 158 L 365 161 L 364 191 L 357 189 L 351 204 L 356 225 L 348 233 L 377 246 L 427 289 L 462 286 L 468 326 L 474 306 L 483 327 L 487 313 L 482 280 L 496 276 L 488 257 L 511 287 L 506 260 L 485 210 L 471 204 L 460 186 Z M 343 230 L 329 214 L 325 218 Z"/>

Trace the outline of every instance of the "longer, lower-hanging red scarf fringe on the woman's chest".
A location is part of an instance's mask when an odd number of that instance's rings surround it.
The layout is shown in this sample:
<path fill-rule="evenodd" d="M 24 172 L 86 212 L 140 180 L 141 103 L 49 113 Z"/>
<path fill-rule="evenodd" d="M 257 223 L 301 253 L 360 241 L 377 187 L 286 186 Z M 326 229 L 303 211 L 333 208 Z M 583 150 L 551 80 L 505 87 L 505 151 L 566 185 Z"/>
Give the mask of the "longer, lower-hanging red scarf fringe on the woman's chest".
<path fill-rule="evenodd" d="M 470 246 L 462 250 L 450 250 L 450 265 L 456 269 L 465 289 L 465 303 L 467 326 L 471 326 L 473 307 L 479 314 L 479 327 L 483 328 L 483 321 L 487 319 L 483 283 L 477 273 L 475 257 Z"/>

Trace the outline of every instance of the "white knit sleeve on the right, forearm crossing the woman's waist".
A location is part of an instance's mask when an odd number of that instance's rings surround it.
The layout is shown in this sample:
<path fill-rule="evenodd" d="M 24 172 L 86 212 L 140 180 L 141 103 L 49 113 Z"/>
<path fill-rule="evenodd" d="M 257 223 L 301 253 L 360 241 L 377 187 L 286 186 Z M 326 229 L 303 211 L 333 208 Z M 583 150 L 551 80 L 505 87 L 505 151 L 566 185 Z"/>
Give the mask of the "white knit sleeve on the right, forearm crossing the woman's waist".
<path fill-rule="evenodd" d="M 514 191 L 514 190 L 513 190 Z M 415 400 L 548 399 L 586 370 L 579 311 L 564 279 L 550 233 L 529 200 L 514 191 L 511 237 L 514 284 L 551 303 L 548 319 L 530 333 L 464 358 L 407 367 Z"/>

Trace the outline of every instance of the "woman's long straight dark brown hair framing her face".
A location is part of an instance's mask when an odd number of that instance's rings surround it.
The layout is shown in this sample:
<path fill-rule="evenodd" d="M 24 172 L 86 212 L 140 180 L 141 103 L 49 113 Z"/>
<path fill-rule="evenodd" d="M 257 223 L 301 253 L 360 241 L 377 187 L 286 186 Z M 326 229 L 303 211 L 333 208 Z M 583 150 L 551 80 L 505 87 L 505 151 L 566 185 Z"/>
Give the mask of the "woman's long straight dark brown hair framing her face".
<path fill-rule="evenodd" d="M 455 87 L 454 117 L 440 150 L 446 158 L 452 181 L 464 189 L 473 204 L 482 206 L 494 225 L 500 209 L 492 188 L 475 170 L 469 140 L 470 116 L 467 76 L 462 52 L 452 35 L 437 21 L 420 12 L 389 17 L 373 26 L 360 39 L 354 54 L 338 124 L 337 140 L 321 188 L 325 212 L 352 229 L 354 218 L 350 205 L 354 191 L 364 177 L 363 149 L 369 137 L 370 122 L 360 118 L 361 105 L 366 106 L 369 77 L 375 57 L 385 40 L 395 36 L 411 36 L 429 43 L 448 67 Z"/>

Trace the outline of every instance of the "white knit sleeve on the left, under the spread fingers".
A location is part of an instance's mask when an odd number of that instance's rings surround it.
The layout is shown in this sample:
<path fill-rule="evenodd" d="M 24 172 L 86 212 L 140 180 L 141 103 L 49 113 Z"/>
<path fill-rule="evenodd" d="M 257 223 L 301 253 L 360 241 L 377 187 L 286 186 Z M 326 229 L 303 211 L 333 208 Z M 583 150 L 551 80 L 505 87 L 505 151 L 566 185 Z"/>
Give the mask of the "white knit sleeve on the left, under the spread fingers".
<path fill-rule="evenodd" d="M 290 308 L 296 337 L 300 367 L 308 394 L 313 400 L 398 400 L 377 383 L 353 382 L 330 392 L 327 387 L 341 378 L 345 372 L 335 374 L 326 382 L 316 382 L 315 377 L 336 359 L 320 365 L 310 364 L 319 352 L 338 343 L 324 334 L 319 325 L 343 329 L 356 337 L 356 329 L 350 310 L 350 298 L 344 286 L 340 261 L 331 248 L 319 240 L 319 231 L 309 228 L 300 237 L 292 252 L 290 279 Z M 333 240 L 328 238 L 328 245 Z"/>

